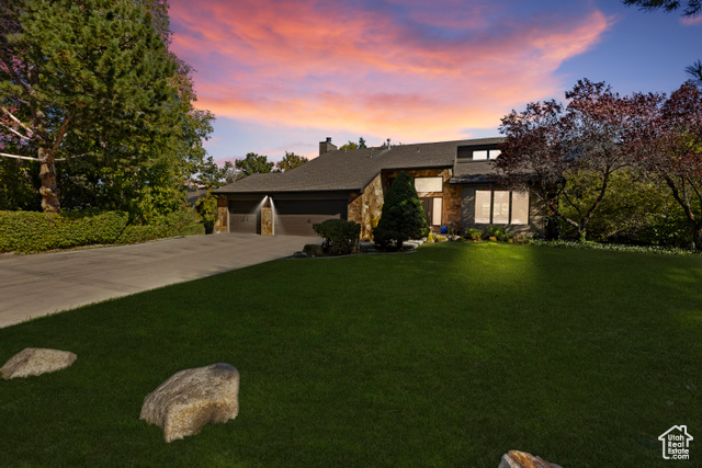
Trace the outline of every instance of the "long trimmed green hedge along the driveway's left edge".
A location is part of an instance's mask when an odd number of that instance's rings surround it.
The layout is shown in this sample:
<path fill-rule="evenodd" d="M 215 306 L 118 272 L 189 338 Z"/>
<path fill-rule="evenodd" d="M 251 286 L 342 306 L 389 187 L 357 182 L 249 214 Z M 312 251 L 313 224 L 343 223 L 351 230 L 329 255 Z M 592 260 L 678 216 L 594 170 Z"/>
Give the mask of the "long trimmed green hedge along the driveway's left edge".
<path fill-rule="evenodd" d="M 41 252 L 113 243 L 124 231 L 123 212 L 0 212 L 0 252 Z"/>

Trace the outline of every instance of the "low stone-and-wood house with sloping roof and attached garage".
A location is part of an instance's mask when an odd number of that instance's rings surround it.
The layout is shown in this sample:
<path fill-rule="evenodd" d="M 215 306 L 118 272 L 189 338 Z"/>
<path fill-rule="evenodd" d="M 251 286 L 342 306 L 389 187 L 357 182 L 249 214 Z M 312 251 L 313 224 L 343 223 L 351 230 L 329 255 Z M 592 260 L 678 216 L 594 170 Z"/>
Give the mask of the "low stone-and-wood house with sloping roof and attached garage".
<path fill-rule="evenodd" d="M 500 225 L 543 233 L 545 208 L 533 194 L 494 183 L 492 161 L 502 138 L 339 150 L 331 138 L 319 156 L 284 173 L 253 174 L 217 189 L 218 232 L 314 236 L 312 225 L 341 218 L 371 238 L 384 195 L 400 171 L 415 180 L 432 230 L 464 231 Z"/>

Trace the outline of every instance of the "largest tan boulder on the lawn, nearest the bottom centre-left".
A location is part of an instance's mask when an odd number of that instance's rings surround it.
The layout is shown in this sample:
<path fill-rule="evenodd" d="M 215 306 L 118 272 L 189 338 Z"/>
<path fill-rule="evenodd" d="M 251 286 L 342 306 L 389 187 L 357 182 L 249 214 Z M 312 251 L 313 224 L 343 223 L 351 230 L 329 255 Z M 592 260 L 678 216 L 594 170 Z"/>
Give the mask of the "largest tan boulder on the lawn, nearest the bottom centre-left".
<path fill-rule="evenodd" d="M 166 442 L 171 442 L 238 413 L 239 372 L 218 363 L 171 376 L 144 399 L 139 419 L 160 426 Z"/>

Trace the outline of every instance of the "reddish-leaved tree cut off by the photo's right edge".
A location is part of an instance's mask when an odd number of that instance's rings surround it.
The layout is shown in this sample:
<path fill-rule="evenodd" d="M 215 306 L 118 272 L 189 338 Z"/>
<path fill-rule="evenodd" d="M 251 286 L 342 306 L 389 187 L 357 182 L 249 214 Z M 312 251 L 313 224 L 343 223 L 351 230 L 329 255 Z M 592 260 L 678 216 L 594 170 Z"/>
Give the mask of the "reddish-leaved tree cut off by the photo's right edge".
<path fill-rule="evenodd" d="M 670 190 L 702 250 L 702 95 L 688 81 L 658 100 L 633 141 L 638 163 Z"/>

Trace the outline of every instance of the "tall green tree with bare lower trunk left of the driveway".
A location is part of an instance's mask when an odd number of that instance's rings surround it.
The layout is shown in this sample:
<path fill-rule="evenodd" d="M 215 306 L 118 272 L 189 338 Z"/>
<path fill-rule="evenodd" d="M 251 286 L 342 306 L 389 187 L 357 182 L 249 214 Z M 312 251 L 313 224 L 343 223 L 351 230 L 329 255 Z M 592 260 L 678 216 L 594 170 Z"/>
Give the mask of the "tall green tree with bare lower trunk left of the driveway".
<path fill-rule="evenodd" d="M 15 149 L 2 156 L 38 162 L 45 212 L 60 209 L 58 161 L 134 172 L 163 155 L 149 148 L 186 142 L 170 138 L 184 101 L 165 1 L 15 0 L 0 18 L 0 127 Z"/>

